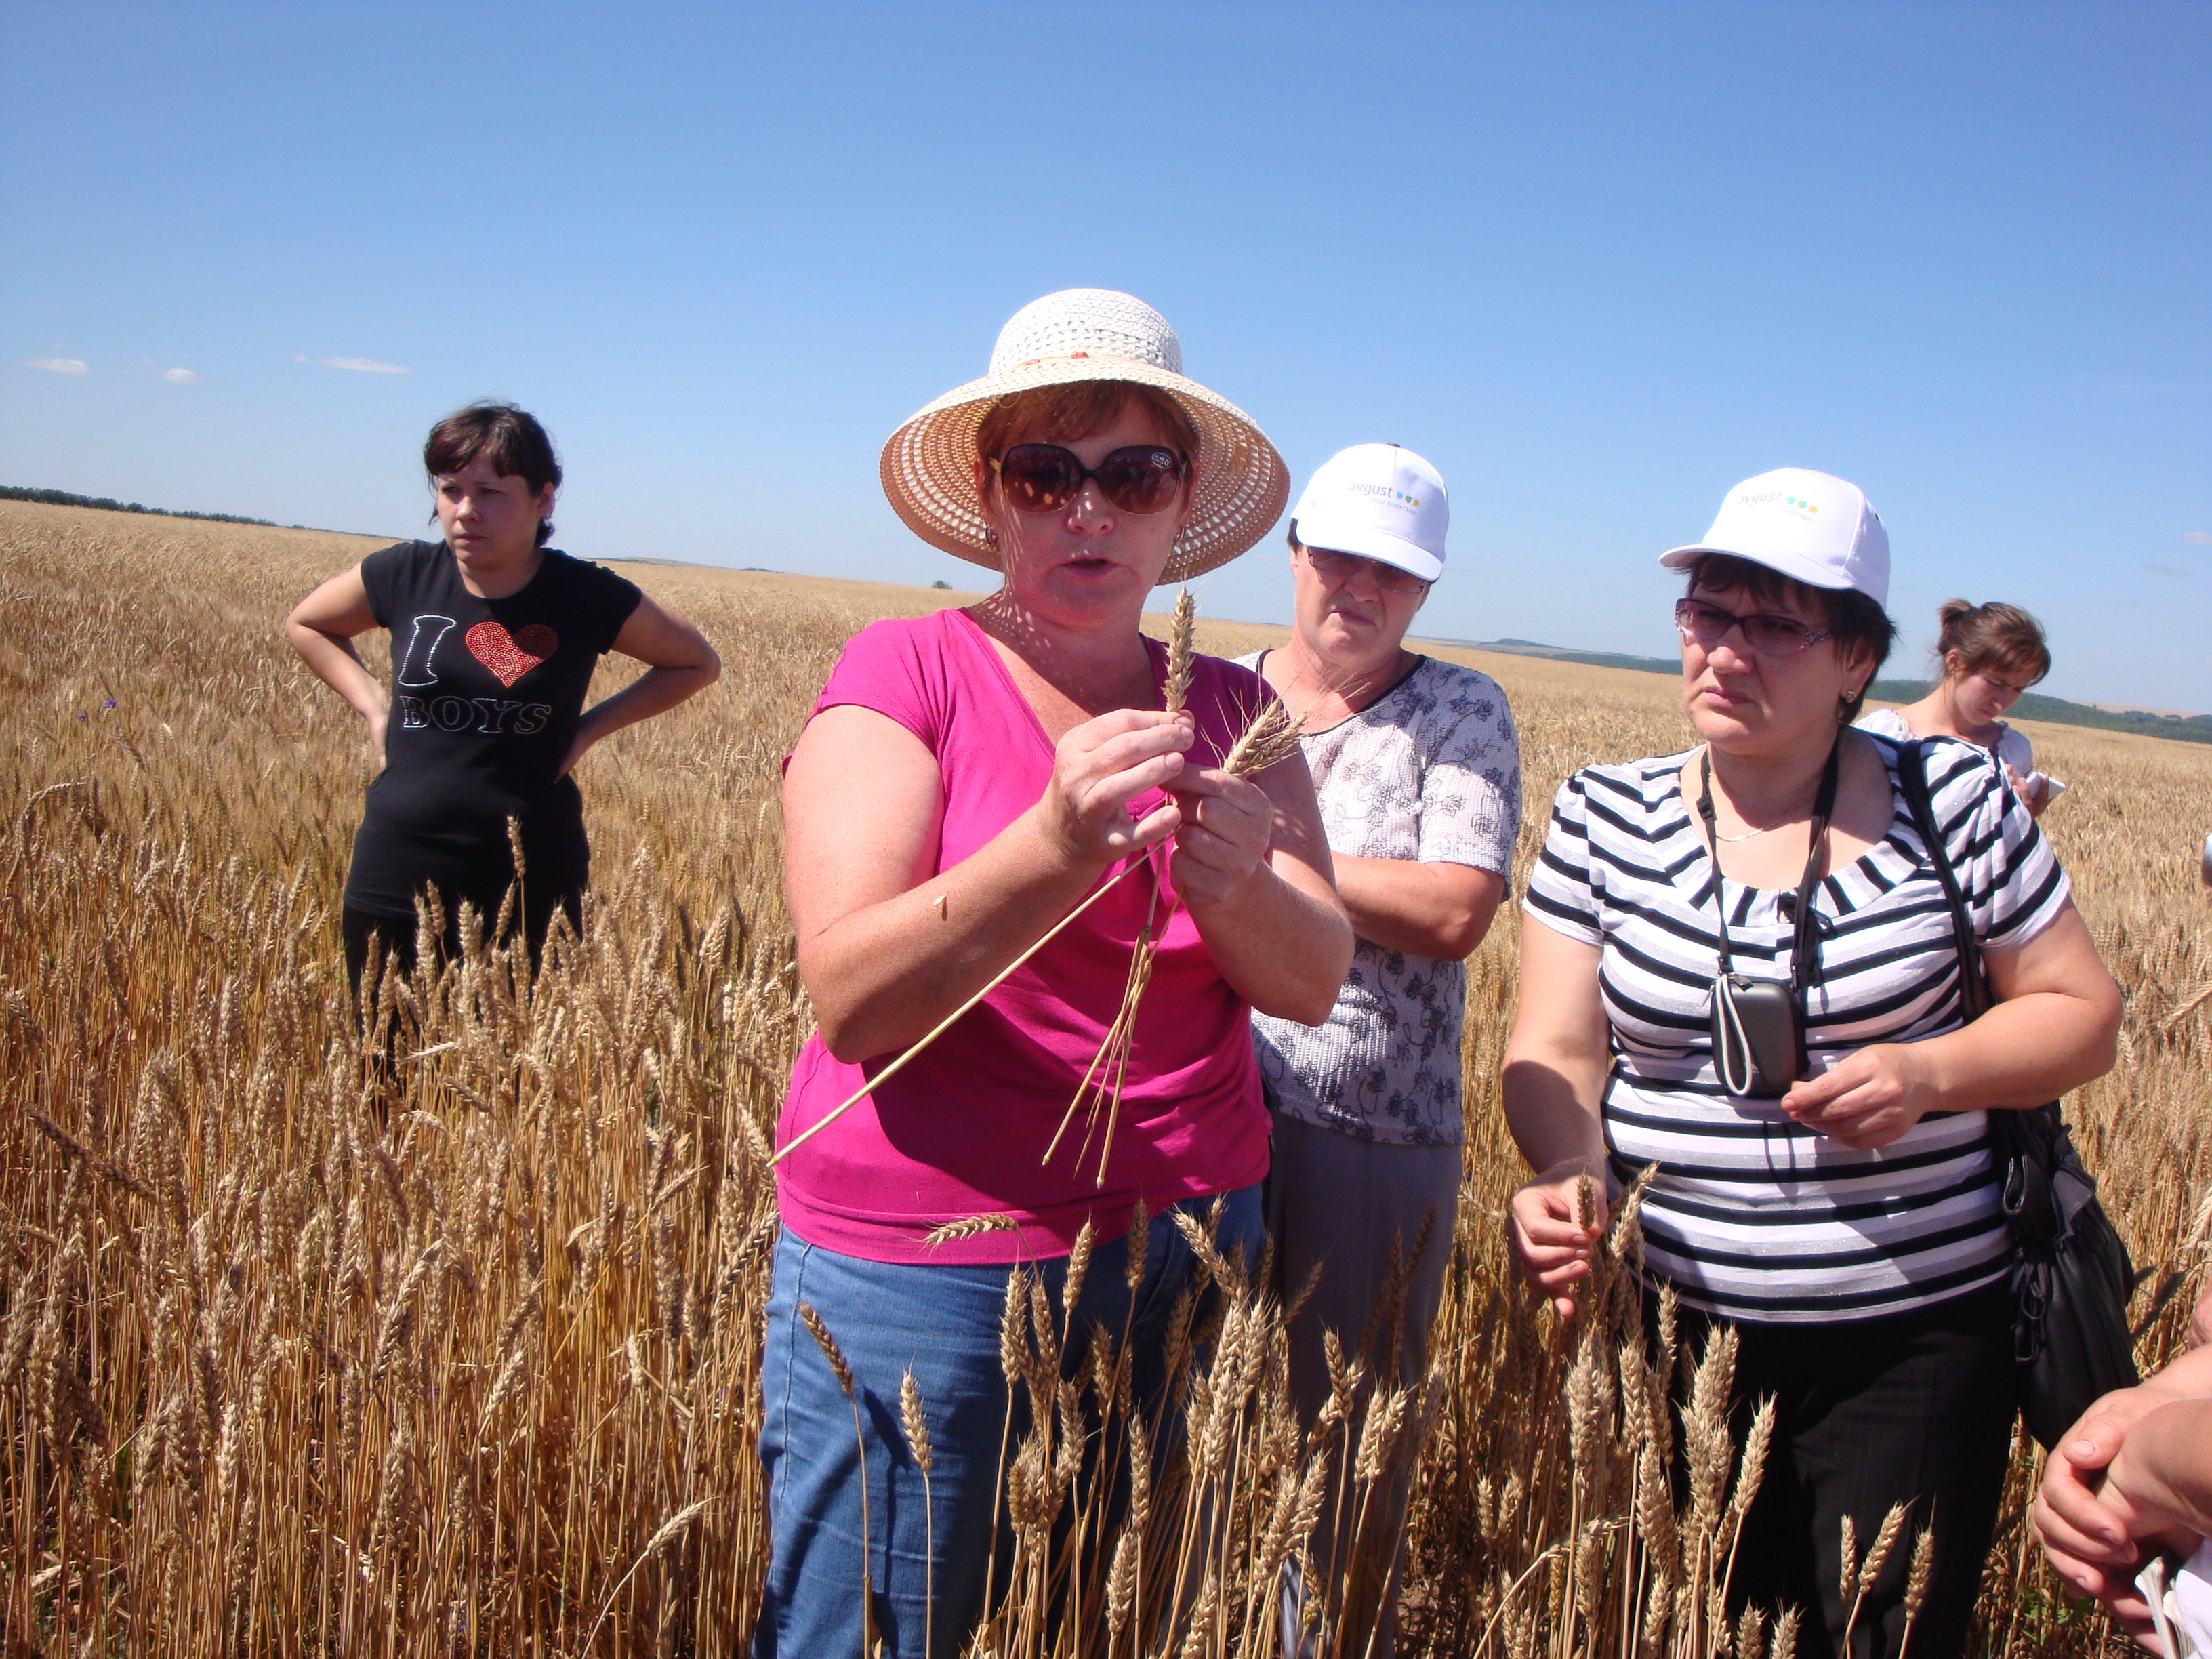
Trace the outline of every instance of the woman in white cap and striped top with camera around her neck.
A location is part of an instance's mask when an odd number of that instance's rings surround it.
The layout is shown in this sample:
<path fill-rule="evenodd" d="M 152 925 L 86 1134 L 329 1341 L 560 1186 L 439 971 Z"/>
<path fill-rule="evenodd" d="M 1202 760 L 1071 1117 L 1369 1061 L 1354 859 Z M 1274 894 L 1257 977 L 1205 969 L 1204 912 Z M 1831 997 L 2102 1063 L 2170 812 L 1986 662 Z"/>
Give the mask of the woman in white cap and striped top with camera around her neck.
<path fill-rule="evenodd" d="M 1805 1608 L 1832 1652 L 1896 1652 L 1911 1540 L 1933 1528 L 1916 1657 L 1960 1652 L 2020 1387 L 2011 1241 L 1989 1110 L 2112 1064 L 2119 991 L 1995 759 L 1851 730 L 1889 650 L 1889 535 L 1865 495 L 1783 469 L 1670 551 L 1683 754 L 1593 765 L 1555 801 L 1528 883 L 1504 1106 L 1537 1172 L 1511 1206 L 1522 1270 L 1575 1312 L 1601 1194 L 1650 1168 L 1644 1272 L 1683 1340 L 1734 1327 L 1736 1429 L 1774 1449 L 1732 1568 L 1739 1606 Z M 1933 823 L 1997 1004 L 1960 1022 Z M 1909 1540 L 1854 1608 L 1843 1526 Z"/>

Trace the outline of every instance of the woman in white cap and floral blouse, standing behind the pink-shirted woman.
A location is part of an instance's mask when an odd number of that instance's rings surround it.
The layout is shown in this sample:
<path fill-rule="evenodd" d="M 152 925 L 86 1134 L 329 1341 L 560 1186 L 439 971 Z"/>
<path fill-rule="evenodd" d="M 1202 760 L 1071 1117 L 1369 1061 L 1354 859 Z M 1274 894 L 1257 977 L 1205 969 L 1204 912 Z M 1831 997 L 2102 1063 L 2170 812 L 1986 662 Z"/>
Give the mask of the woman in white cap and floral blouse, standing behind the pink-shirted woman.
<path fill-rule="evenodd" d="M 1252 1018 L 1274 1166 L 1267 1230 L 1290 1318 L 1290 1389 L 1312 1425 L 1329 1398 L 1323 1332 L 1383 1380 L 1413 1385 L 1444 1290 L 1460 1201 L 1464 958 L 1489 931 L 1520 834 L 1520 745 L 1489 675 L 1405 648 L 1444 573 L 1436 467 L 1354 445 L 1307 482 L 1290 522 L 1292 633 L 1243 657 L 1303 717 L 1336 891 L 1358 945 L 1321 1026 Z M 1318 1276 L 1316 1276 L 1318 1270 Z M 1301 1292 L 1310 1292 L 1301 1301 Z M 1396 1301 L 1402 1296 L 1402 1301 Z M 1391 1305 L 1385 1329 L 1376 1310 Z M 1391 1641 L 1402 1484 L 1358 1559 L 1314 1540 L 1356 1626 Z M 1325 1504 L 1327 1515 L 1334 1506 Z M 1365 1628 L 1349 1646 L 1365 1650 Z"/>

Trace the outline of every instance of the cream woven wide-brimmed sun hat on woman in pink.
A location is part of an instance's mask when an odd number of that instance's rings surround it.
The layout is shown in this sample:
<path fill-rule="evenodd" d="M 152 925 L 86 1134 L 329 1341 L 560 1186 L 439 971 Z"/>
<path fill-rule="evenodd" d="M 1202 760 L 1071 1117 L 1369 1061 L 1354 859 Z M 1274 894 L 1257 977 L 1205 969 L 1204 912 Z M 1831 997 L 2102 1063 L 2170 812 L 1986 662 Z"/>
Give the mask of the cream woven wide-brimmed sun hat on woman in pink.
<path fill-rule="evenodd" d="M 975 431 L 1009 392 L 1135 380 L 1172 396 L 1199 429 L 1199 487 L 1161 582 L 1228 564 L 1283 515 L 1290 471 L 1252 416 L 1183 378 L 1168 319 L 1133 294 L 1068 288 L 1031 301 L 998 332 L 991 372 L 911 416 L 883 447 L 883 493 L 907 526 L 953 557 L 1000 564 L 975 500 Z"/>

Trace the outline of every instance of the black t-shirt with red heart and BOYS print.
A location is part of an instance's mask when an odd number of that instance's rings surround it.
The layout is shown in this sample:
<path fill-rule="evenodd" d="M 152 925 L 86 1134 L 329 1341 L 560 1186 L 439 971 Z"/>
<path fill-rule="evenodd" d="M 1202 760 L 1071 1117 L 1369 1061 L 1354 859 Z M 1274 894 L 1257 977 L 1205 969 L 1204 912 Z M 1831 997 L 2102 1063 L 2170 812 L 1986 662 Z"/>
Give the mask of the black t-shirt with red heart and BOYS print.
<path fill-rule="evenodd" d="M 400 542 L 361 562 L 361 586 L 392 630 L 392 719 L 345 905 L 407 918 L 436 885 L 449 909 L 467 898 L 489 920 L 515 874 L 509 818 L 531 907 L 582 891 L 584 796 L 555 774 L 637 584 L 546 549 L 518 593 L 480 599 L 445 542 Z"/>

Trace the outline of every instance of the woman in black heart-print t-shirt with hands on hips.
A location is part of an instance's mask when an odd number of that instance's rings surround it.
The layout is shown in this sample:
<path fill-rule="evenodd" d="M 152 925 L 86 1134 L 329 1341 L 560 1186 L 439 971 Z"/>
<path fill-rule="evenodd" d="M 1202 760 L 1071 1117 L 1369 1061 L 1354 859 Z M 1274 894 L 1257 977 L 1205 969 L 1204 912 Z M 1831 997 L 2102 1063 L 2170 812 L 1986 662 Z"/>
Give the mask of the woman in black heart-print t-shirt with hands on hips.
<path fill-rule="evenodd" d="M 345 964 L 354 984 L 372 940 L 416 964 L 416 894 L 447 916 L 487 920 L 515 878 L 507 821 L 522 836 L 518 916 L 531 960 L 557 911 L 571 927 L 591 865 L 571 770 L 608 732 L 714 684 L 721 661 L 684 617 L 633 582 L 546 546 L 560 462 L 535 418 L 476 403 L 431 427 L 422 467 L 442 542 L 398 542 L 330 577 L 285 619 L 307 666 L 369 723 L 378 774 L 345 878 Z M 389 695 L 354 635 L 392 633 Z M 584 710 L 599 657 L 646 664 Z"/>

